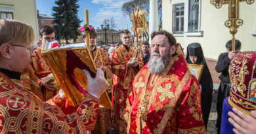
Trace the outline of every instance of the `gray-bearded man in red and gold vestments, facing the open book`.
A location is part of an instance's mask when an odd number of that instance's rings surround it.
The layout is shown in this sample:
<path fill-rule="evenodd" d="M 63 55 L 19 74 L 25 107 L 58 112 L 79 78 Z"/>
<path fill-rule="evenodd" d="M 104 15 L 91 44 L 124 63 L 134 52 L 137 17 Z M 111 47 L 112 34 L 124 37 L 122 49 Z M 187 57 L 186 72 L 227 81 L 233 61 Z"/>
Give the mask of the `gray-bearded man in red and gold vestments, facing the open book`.
<path fill-rule="evenodd" d="M 153 32 L 150 61 L 133 80 L 127 99 L 127 133 L 206 133 L 198 80 L 175 37 Z"/>

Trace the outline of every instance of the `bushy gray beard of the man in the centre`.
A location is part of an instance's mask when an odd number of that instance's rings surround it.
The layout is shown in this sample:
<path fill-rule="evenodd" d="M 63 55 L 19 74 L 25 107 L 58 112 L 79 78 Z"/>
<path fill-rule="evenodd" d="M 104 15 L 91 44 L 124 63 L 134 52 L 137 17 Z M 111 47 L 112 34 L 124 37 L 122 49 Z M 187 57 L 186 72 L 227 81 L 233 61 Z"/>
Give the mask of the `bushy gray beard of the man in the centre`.
<path fill-rule="evenodd" d="M 157 54 L 157 53 L 154 53 Z M 158 75 L 163 72 L 163 70 L 167 67 L 169 64 L 169 61 L 171 60 L 171 54 L 168 54 L 165 57 L 156 58 L 153 57 L 153 55 L 150 56 L 150 60 L 148 62 L 148 71 L 152 74 Z"/>

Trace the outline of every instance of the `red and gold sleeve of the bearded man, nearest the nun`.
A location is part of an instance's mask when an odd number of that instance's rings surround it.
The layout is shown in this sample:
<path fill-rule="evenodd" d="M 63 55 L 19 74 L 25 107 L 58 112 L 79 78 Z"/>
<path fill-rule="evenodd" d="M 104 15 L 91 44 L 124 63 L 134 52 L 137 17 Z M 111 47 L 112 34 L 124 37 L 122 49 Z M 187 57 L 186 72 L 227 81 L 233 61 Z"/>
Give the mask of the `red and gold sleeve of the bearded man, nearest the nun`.
<path fill-rule="evenodd" d="M 183 89 L 179 115 L 178 133 L 206 133 L 201 110 L 201 93 L 196 78 L 192 76 Z"/>

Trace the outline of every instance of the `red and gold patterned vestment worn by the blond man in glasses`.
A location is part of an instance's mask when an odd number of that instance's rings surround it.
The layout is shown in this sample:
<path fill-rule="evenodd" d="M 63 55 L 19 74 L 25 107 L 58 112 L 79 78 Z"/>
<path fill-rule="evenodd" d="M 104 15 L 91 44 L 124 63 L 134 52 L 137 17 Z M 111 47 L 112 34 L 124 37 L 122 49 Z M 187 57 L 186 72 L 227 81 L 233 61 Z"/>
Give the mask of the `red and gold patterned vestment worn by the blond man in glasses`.
<path fill-rule="evenodd" d="M 18 80 L 15 80 L 16 82 Z M 99 99 L 87 94 L 76 112 L 42 102 L 0 72 L 0 133 L 86 133 L 93 130 Z"/>

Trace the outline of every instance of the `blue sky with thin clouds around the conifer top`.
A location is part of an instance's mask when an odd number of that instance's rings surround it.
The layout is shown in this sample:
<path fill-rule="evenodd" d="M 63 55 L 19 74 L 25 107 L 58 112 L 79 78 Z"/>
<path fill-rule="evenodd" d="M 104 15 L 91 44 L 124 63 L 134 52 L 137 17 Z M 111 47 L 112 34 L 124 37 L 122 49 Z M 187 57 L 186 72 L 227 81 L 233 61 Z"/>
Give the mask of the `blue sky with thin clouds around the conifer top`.
<path fill-rule="evenodd" d="M 85 24 L 85 10 L 89 10 L 89 25 L 100 27 L 105 18 L 116 20 L 117 29 L 128 29 L 131 31 L 132 23 L 129 16 L 123 15 L 121 7 L 123 3 L 131 0 L 79 0 L 78 18 L 82 20 L 81 26 Z M 54 0 L 36 0 L 39 14 L 52 16 Z"/>

